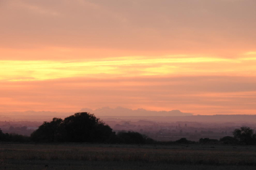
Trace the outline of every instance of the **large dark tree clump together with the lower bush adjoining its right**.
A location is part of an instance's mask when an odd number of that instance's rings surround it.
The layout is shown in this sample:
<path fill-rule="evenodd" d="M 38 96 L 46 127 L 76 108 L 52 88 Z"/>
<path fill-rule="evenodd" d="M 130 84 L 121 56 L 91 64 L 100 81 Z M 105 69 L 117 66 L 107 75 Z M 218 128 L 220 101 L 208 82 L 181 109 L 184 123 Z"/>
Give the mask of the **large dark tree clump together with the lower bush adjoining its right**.
<path fill-rule="evenodd" d="M 138 132 L 113 132 L 111 127 L 93 114 L 75 113 L 65 119 L 44 122 L 30 136 L 33 142 L 92 142 L 148 144 L 153 139 Z"/>

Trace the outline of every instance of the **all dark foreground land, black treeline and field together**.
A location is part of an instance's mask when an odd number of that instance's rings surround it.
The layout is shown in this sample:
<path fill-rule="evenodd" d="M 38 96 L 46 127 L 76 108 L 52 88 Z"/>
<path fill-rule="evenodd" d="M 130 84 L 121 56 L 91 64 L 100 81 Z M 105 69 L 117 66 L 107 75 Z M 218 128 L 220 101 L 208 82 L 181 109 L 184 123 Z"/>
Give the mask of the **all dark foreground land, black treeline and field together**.
<path fill-rule="evenodd" d="M 0 130 L 0 169 L 253 169 L 255 144 L 250 127 L 220 140 L 160 142 L 139 132 L 116 134 L 83 112 L 44 122 L 30 137 Z"/>

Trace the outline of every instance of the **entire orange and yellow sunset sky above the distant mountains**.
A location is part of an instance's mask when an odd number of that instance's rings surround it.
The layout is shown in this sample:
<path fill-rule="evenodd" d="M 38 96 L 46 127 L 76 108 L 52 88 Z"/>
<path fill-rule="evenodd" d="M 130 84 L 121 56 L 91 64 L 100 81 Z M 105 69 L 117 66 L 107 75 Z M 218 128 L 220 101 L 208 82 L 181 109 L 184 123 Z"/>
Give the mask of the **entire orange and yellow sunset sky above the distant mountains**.
<path fill-rule="evenodd" d="M 0 0 L 0 110 L 255 114 L 255 7 Z"/>

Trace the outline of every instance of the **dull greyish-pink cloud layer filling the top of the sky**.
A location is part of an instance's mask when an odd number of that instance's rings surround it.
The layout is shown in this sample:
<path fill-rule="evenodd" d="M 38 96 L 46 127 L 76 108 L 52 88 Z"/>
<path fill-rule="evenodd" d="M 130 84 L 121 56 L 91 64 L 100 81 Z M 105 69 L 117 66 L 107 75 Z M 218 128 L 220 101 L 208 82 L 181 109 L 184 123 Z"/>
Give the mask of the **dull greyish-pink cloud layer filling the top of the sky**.
<path fill-rule="evenodd" d="M 0 46 L 245 51 L 255 44 L 254 6 L 252 0 L 7 1 Z"/>

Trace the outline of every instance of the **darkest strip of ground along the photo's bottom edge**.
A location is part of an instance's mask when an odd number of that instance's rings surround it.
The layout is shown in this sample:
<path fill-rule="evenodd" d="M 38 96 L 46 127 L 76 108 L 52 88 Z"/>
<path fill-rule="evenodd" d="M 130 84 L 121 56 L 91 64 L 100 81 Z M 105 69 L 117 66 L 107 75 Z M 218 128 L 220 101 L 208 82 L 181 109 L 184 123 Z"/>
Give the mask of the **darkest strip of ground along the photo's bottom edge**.
<path fill-rule="evenodd" d="M 1 166 L 0 166 L 1 169 Z M 254 170 L 254 166 L 214 166 L 205 164 L 166 164 L 166 163 L 140 163 L 140 162 L 109 162 L 109 161 L 53 161 L 53 160 L 36 160 L 36 161 L 11 161 L 2 169 L 87 169 L 87 170 Z"/>

